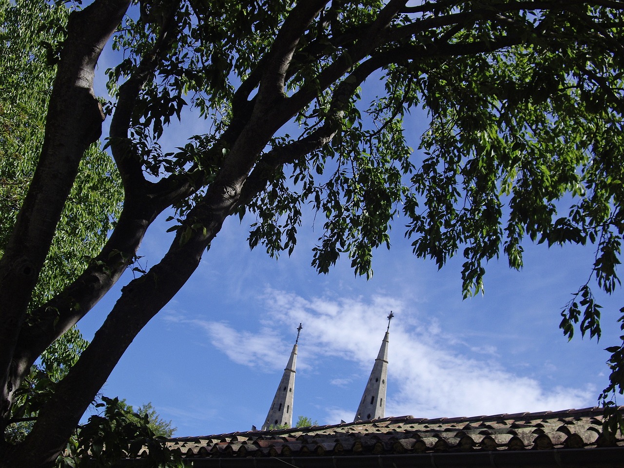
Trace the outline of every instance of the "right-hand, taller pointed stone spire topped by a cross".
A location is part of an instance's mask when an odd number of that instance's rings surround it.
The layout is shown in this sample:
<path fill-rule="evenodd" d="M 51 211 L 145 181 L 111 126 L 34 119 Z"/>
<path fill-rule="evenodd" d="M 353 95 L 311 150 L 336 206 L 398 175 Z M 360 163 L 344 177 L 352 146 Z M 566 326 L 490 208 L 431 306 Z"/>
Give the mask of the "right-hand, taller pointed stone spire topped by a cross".
<path fill-rule="evenodd" d="M 364 389 L 362 401 L 359 403 L 358 412 L 355 414 L 353 422 L 368 421 L 369 419 L 379 419 L 384 417 L 386 412 L 386 383 L 388 380 L 388 340 L 390 336 L 390 321 L 394 317 L 392 311 L 388 316 L 388 328 L 386 336 L 381 342 L 379 354 L 375 359 L 373 371 Z"/>

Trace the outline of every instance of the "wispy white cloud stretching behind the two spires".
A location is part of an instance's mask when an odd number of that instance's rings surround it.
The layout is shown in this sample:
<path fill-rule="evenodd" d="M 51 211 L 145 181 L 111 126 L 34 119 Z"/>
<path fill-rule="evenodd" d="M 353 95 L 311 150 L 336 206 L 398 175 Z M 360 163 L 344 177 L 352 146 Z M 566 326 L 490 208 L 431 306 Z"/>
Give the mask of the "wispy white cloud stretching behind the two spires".
<path fill-rule="evenodd" d="M 466 336 L 444 333 L 436 318 L 414 310 L 414 304 L 409 304 L 408 314 L 408 306 L 396 298 L 377 295 L 369 301 L 344 297 L 306 300 L 268 290 L 264 300 L 268 313 L 257 333 L 237 331 L 226 322 L 182 320 L 202 326 L 214 346 L 232 361 L 245 365 L 253 361 L 254 366 L 271 369 L 283 366 L 290 351 L 288 330 L 293 329 L 295 338 L 293 324 L 302 322 L 305 347 L 300 346 L 299 363 L 305 365 L 301 361 L 311 363 L 321 357 L 346 359 L 357 363 L 360 373 L 368 374 L 388 323 L 386 316 L 392 310 L 396 319 L 390 328 L 386 416 L 557 410 L 588 406 L 593 400 L 593 388 L 545 388 L 533 378 L 512 373 L 496 360 L 500 358 L 495 346 L 469 346 Z M 301 358 L 303 355 L 306 359 Z M 319 376 L 322 378 L 322 373 Z M 348 381 L 333 379 L 328 385 L 341 386 Z M 327 421 L 353 418 L 352 409 L 331 404 L 326 401 Z"/>

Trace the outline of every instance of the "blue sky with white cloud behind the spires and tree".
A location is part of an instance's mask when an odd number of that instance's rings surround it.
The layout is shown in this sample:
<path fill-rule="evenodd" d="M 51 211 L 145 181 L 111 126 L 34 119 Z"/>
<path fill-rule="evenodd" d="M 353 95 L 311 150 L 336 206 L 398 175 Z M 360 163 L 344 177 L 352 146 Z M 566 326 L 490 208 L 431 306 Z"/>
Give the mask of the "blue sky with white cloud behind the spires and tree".
<path fill-rule="evenodd" d="M 109 44 L 110 45 L 110 44 Z M 96 81 L 112 64 L 105 51 Z M 407 122 L 418 146 L 424 116 Z M 105 125 L 109 124 L 109 120 Z M 185 114 L 163 147 L 202 133 Z M 415 154 L 417 157 L 417 154 Z M 173 239 L 156 220 L 139 255 L 148 268 Z M 456 417 L 595 406 L 607 384 L 608 353 L 618 344 L 620 290 L 598 296 L 604 306 L 600 343 L 558 329 L 560 311 L 587 281 L 592 247 L 525 245 L 524 269 L 487 265 L 485 294 L 462 300 L 462 258 L 441 270 L 412 255 L 405 221 L 392 226 L 391 248 L 376 251 L 371 280 L 356 277 L 341 258 L 328 275 L 310 266 L 322 234 L 306 213 L 290 257 L 250 251 L 253 219 L 230 218 L 182 290 L 137 336 L 102 389 L 139 406 L 152 402 L 177 427 L 176 436 L 202 436 L 260 427 L 297 334 L 293 414 L 318 424 L 353 421 L 374 359 L 390 326 L 386 416 Z M 79 323 L 92 338 L 132 279 L 117 287 Z M 597 286 L 595 287 L 597 289 Z M 595 291 L 597 292 L 597 291 Z"/>

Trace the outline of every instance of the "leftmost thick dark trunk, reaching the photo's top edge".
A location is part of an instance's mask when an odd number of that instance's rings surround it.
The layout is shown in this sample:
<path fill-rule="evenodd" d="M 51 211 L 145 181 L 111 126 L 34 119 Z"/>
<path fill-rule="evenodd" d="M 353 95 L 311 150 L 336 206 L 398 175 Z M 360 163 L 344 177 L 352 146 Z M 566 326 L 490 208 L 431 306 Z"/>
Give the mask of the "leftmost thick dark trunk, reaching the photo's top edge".
<path fill-rule="evenodd" d="M 0 420 L 9 414 L 9 375 L 19 331 L 82 155 L 102 131 L 92 93 L 95 64 L 129 0 L 96 0 L 73 12 L 46 119 L 41 157 L 0 260 Z M 4 424 L 0 424 L 4 428 Z"/>

